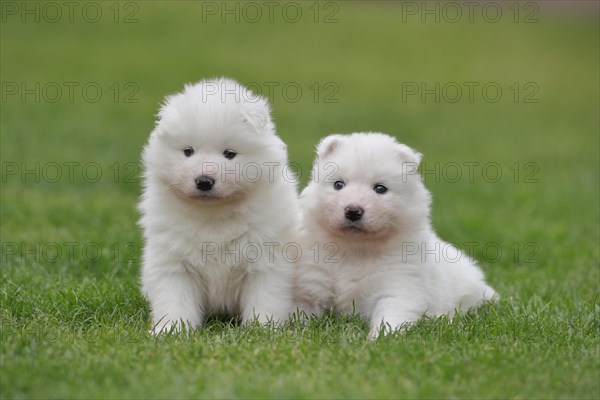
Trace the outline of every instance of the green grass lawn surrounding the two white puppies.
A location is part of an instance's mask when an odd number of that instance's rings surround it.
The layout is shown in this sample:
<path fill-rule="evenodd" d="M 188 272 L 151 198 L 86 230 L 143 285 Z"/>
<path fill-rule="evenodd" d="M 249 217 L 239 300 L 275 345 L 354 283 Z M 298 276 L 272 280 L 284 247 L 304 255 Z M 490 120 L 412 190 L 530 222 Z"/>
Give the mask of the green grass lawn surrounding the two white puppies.
<path fill-rule="evenodd" d="M 137 2 L 138 22 L 115 24 L 112 3 L 98 4 L 96 24 L 0 25 L 2 398 L 600 397 L 597 18 L 542 8 L 534 24 L 403 23 L 398 4 L 351 2 L 333 24 L 312 22 L 312 3 L 296 3 L 295 24 L 203 23 L 198 3 Z M 162 97 L 216 75 L 300 85 L 299 101 L 275 91 L 272 102 L 303 182 L 328 133 L 379 130 L 423 152 L 434 226 L 473 247 L 502 301 L 376 342 L 358 319 L 331 316 L 149 336 L 135 163 Z M 21 101 L 11 82 L 97 82 L 103 95 Z M 127 82 L 136 103 L 123 101 Z M 328 82 L 336 103 L 323 101 Z M 403 102 L 406 82 L 496 82 L 503 96 Z M 514 82 L 537 85 L 539 101 L 514 102 Z M 481 163 L 472 180 L 466 167 L 458 182 L 432 172 L 465 162 Z M 35 163 L 39 182 L 21 174 Z M 63 167 L 56 182 L 49 163 Z M 489 163 L 498 182 L 482 175 Z"/>

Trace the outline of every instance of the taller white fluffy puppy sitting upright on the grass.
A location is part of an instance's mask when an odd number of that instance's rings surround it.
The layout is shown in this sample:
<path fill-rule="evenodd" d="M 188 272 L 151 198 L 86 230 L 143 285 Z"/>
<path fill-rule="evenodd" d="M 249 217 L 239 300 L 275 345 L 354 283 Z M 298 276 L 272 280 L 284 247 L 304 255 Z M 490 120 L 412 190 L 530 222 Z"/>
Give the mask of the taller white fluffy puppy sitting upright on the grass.
<path fill-rule="evenodd" d="M 268 102 L 225 79 L 167 96 L 143 154 L 142 290 L 154 334 L 210 314 L 282 321 L 297 230 L 296 182 Z"/>

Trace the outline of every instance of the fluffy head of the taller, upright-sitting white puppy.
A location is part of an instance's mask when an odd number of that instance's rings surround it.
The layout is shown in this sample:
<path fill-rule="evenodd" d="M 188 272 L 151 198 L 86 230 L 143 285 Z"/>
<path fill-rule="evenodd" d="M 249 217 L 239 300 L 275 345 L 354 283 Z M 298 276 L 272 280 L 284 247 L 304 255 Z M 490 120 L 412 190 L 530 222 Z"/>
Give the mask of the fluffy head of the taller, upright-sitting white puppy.
<path fill-rule="evenodd" d="M 270 107 L 229 79 L 186 85 L 168 96 L 144 149 L 146 177 L 179 197 L 222 204 L 277 179 L 287 162 Z"/>

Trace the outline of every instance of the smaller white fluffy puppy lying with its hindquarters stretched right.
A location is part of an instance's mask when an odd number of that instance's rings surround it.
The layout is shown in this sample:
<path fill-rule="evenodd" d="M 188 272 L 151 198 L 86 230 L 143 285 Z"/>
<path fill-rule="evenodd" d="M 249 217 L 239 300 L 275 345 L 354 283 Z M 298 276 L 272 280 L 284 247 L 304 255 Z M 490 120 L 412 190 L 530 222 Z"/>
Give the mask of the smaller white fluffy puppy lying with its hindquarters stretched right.
<path fill-rule="evenodd" d="M 382 133 L 320 142 L 300 196 L 308 251 L 296 269 L 299 308 L 356 312 L 376 338 L 496 297 L 475 262 L 433 231 L 420 159 Z"/>

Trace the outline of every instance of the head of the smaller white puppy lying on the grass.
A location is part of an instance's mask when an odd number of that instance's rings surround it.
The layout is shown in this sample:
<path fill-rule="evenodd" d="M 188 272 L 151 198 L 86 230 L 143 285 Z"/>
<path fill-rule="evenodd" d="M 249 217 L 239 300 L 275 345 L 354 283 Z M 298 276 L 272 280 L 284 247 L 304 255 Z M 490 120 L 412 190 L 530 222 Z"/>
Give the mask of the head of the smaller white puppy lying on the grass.
<path fill-rule="evenodd" d="M 385 241 L 428 221 L 421 154 L 381 133 L 331 135 L 302 193 L 305 218 L 334 238 Z"/>

